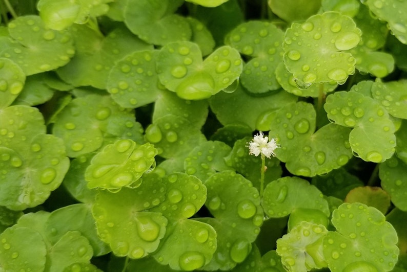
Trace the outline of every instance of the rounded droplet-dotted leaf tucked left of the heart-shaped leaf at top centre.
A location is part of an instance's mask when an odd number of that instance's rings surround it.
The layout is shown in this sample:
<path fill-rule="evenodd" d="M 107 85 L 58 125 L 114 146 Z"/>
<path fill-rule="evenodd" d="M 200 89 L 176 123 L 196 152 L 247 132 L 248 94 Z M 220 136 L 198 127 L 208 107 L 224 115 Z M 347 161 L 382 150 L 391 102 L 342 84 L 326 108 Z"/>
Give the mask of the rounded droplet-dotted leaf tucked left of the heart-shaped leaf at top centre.
<path fill-rule="evenodd" d="M 107 90 L 122 107 L 136 108 L 154 102 L 158 95 L 155 59 L 158 51 L 136 51 L 116 62 L 107 80 Z"/>

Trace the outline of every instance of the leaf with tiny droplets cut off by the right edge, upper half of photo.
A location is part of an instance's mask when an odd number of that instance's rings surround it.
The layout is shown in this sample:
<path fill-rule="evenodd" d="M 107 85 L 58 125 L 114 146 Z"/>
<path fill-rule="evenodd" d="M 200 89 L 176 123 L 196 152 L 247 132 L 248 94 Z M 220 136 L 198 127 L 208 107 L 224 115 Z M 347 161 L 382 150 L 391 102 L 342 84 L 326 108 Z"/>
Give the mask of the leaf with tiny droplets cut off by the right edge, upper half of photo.
<path fill-rule="evenodd" d="M 407 119 L 405 110 L 407 104 L 407 80 L 376 81 L 372 85 L 372 95 L 390 115 Z"/>

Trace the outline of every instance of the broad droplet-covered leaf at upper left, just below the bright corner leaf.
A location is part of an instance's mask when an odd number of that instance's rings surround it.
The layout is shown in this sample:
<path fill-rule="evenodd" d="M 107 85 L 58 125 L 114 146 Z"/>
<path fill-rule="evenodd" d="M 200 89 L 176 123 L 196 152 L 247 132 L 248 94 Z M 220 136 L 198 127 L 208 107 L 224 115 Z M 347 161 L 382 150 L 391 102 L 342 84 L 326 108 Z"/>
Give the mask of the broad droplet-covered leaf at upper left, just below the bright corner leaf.
<path fill-rule="evenodd" d="M 0 56 L 10 58 L 29 76 L 67 64 L 75 54 L 71 34 L 48 29 L 35 15 L 20 16 L 8 25 L 10 40 Z"/>

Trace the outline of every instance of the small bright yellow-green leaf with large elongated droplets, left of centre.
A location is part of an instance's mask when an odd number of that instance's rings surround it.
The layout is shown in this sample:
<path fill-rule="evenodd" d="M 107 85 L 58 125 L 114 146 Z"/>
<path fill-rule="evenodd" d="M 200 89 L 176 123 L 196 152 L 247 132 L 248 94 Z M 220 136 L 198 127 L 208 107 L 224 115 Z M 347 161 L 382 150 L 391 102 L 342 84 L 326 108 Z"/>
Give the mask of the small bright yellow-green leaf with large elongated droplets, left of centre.
<path fill-rule="evenodd" d="M 131 140 L 118 140 L 107 145 L 86 169 L 88 188 L 136 188 L 141 184 L 141 176 L 154 168 L 155 155 L 157 150 L 149 143 L 138 145 Z"/>

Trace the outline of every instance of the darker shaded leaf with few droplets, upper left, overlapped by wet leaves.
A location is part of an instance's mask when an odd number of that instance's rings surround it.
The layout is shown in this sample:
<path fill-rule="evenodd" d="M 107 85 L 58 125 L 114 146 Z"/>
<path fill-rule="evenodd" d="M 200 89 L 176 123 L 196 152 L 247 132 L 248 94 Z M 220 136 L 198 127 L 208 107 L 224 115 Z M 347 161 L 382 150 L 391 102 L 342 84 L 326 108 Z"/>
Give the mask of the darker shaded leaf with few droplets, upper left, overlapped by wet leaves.
<path fill-rule="evenodd" d="M 134 51 L 152 49 L 124 27 L 114 29 L 106 37 L 84 25 L 72 26 L 71 32 L 76 54 L 56 72 L 74 86 L 106 89 L 109 72 L 119 59 Z"/>

